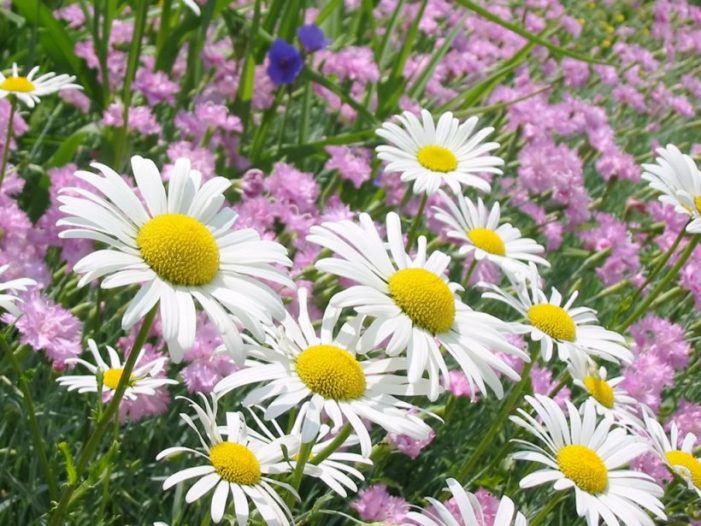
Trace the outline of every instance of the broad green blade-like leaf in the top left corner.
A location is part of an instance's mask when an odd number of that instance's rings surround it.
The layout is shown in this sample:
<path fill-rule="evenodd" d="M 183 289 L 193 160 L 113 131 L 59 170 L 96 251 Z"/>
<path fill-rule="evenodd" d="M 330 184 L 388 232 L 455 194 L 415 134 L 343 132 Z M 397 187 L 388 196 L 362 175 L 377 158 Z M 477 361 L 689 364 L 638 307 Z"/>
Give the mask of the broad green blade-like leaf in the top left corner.
<path fill-rule="evenodd" d="M 55 64 L 57 73 L 75 75 L 98 109 L 102 109 L 102 87 L 97 75 L 73 51 L 73 40 L 51 10 L 37 0 L 13 0 L 17 12 L 38 28 L 39 43 Z"/>

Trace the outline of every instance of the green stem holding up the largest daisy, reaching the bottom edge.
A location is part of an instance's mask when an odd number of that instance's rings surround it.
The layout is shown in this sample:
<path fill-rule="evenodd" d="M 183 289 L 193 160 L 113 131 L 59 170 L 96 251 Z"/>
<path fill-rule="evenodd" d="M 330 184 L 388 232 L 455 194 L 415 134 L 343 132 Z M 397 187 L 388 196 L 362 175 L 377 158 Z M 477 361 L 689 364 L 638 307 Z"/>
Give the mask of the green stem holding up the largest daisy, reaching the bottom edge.
<path fill-rule="evenodd" d="M 100 445 L 100 442 L 102 441 L 102 437 L 107 432 L 108 428 L 112 423 L 112 419 L 115 417 L 117 411 L 119 410 L 119 404 L 122 401 L 124 392 L 126 391 L 127 386 L 129 384 L 129 378 L 131 378 L 131 373 L 134 370 L 134 364 L 136 363 L 136 359 L 138 358 L 139 353 L 141 352 L 141 348 L 144 346 L 144 343 L 148 338 L 148 333 L 151 330 L 151 325 L 153 325 L 153 319 L 156 317 L 156 312 L 157 307 L 151 309 L 151 311 L 146 315 L 143 323 L 141 324 L 139 334 L 136 336 L 136 340 L 134 341 L 134 345 L 131 348 L 129 357 L 127 358 L 127 361 L 124 364 L 124 368 L 122 369 L 122 374 L 119 377 L 117 389 L 115 389 L 114 395 L 112 396 L 112 400 L 110 401 L 104 413 L 102 413 L 102 416 L 100 417 L 100 420 L 97 423 L 97 427 L 90 435 L 90 438 L 88 438 L 87 443 L 83 447 L 83 450 L 81 451 L 80 456 L 78 457 L 78 463 L 76 465 L 75 471 L 76 480 L 75 482 L 73 482 L 72 484 L 68 484 L 64 488 L 63 493 L 61 494 L 61 500 L 59 501 L 56 510 L 54 511 L 53 516 L 51 517 L 51 520 L 49 522 L 49 524 L 51 525 L 61 526 L 65 524 L 64 516 L 68 512 L 68 508 L 71 504 L 71 497 L 80 485 L 80 479 L 82 478 L 83 473 L 87 469 L 88 463 L 92 460 L 92 457 L 94 456 L 98 446 Z"/>

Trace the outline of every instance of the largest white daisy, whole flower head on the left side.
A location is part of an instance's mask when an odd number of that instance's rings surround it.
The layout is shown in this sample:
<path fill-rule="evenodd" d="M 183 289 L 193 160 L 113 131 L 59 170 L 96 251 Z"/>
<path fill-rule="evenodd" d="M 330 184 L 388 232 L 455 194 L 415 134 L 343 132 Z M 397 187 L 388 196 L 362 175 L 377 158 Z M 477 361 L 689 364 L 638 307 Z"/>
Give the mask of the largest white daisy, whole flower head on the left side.
<path fill-rule="evenodd" d="M 58 222 L 70 227 L 61 237 L 108 245 L 75 265 L 84 274 L 80 285 L 103 276 L 103 288 L 141 284 L 122 327 L 128 330 L 160 303 L 163 337 L 175 362 L 194 343 L 197 301 L 242 363 L 239 325 L 263 338 L 263 327 L 285 315 L 280 296 L 261 280 L 294 287 L 273 267 L 291 264 L 287 251 L 261 240 L 253 229 L 232 229 L 236 214 L 222 207 L 231 184 L 227 179 L 201 184 L 190 161 L 178 159 L 166 193 L 152 161 L 135 156 L 131 165 L 146 206 L 119 174 L 98 163 L 92 166 L 102 177 L 76 172 L 97 192 L 70 188 L 77 197 L 59 197 L 61 211 L 70 216 Z"/>

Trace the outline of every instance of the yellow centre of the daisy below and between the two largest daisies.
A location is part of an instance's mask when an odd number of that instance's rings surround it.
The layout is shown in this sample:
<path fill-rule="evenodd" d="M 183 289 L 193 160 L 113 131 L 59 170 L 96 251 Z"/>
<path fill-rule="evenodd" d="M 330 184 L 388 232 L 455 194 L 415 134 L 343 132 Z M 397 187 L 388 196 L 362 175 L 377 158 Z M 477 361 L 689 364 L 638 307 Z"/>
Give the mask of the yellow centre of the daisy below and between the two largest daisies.
<path fill-rule="evenodd" d="M 334 345 L 312 345 L 295 361 L 300 380 L 331 400 L 355 400 L 365 392 L 365 373 L 358 360 Z"/>

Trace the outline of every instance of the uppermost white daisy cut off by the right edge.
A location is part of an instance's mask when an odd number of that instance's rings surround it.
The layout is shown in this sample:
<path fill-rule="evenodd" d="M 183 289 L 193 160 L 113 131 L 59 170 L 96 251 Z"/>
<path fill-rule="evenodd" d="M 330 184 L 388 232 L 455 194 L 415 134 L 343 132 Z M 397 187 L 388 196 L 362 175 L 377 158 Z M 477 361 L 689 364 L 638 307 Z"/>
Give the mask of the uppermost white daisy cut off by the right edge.
<path fill-rule="evenodd" d="M 687 232 L 701 233 L 701 171 L 691 157 L 673 144 L 658 148 L 657 153 L 656 164 L 643 164 L 643 179 L 662 193 L 660 201 L 691 216 Z"/>

